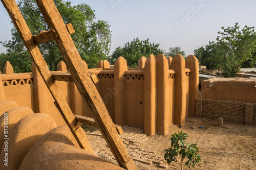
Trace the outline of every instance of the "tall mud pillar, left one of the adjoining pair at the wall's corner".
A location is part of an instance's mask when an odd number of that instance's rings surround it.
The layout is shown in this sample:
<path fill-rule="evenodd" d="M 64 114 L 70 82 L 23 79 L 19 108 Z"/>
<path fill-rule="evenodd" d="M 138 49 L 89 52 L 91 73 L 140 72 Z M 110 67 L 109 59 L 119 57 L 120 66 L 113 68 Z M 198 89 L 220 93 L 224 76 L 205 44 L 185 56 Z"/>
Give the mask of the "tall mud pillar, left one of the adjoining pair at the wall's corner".
<path fill-rule="evenodd" d="M 146 135 L 155 135 L 156 122 L 156 58 L 148 56 L 144 68 L 144 131 Z"/>

